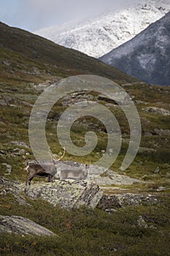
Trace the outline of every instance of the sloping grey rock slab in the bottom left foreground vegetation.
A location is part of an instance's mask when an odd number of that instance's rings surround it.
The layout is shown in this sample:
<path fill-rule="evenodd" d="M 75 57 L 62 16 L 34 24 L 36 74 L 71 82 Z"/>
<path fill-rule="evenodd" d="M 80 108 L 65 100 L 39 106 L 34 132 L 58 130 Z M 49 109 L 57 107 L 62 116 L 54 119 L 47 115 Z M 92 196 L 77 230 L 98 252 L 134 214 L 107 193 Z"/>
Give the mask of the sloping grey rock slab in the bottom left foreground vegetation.
<path fill-rule="evenodd" d="M 18 235 L 57 236 L 47 228 L 20 216 L 1 216 L 0 233 L 15 233 Z"/>

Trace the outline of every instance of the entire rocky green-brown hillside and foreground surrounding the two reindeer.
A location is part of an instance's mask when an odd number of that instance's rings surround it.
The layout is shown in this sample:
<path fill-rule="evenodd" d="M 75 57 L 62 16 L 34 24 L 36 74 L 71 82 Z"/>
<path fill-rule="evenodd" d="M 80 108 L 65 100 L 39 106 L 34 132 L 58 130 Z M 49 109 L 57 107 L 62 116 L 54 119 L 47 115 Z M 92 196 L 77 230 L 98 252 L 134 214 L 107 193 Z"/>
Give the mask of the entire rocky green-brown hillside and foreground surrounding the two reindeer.
<path fill-rule="evenodd" d="M 170 87 L 148 85 L 20 29 L 2 24 L 0 33 L 0 252 L 169 255 Z M 26 162 L 35 162 L 28 121 L 37 97 L 50 84 L 86 72 L 117 81 L 133 99 L 142 123 L 134 162 L 120 170 L 130 141 L 120 105 L 100 92 L 74 91 L 56 102 L 47 116 L 46 137 L 53 154 L 57 159 L 63 154 L 56 136 L 61 114 L 74 103 L 90 100 L 117 118 L 122 133 L 119 156 L 107 171 L 93 166 L 107 148 L 108 135 L 101 121 L 81 117 L 72 125 L 72 141 L 82 147 L 85 133 L 93 131 L 98 137 L 96 148 L 80 157 L 66 152 L 58 170 L 66 165 L 83 169 L 89 164 L 89 179 L 59 181 L 55 177 L 48 183 L 37 177 L 26 186 Z M 119 95 L 122 103 L 123 95 Z"/>

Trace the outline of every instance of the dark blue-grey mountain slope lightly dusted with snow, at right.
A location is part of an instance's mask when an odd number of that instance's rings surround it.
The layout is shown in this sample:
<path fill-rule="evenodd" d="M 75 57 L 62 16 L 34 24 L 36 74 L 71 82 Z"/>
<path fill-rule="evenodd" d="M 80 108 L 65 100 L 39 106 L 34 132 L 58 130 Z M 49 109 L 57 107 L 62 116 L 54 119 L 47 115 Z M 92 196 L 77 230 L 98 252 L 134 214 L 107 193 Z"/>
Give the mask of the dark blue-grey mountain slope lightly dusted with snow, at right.
<path fill-rule="evenodd" d="M 147 83 L 170 85 L 170 12 L 101 60 Z"/>

